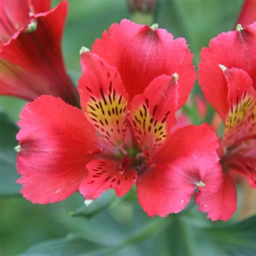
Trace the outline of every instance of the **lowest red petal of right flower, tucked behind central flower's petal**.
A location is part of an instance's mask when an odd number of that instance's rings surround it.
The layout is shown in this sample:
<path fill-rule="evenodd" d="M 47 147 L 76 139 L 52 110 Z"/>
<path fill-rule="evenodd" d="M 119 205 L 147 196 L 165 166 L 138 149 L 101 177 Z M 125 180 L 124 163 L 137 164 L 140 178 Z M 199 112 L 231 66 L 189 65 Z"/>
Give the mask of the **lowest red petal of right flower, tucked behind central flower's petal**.
<path fill-rule="evenodd" d="M 195 202 L 199 211 L 207 212 L 213 221 L 227 221 L 237 209 L 237 191 L 227 172 L 222 173 L 218 164 L 204 179 L 205 186 L 199 187 Z"/>

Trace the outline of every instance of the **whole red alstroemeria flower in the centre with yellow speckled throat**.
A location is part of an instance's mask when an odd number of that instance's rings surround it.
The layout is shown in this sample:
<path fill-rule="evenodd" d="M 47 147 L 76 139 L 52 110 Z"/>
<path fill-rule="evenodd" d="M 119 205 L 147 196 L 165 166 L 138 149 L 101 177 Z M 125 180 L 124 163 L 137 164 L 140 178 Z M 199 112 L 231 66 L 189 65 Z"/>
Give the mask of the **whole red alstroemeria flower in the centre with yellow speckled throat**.
<path fill-rule="evenodd" d="M 122 20 L 96 40 L 93 52 L 81 49 L 83 112 L 42 96 L 20 114 L 23 196 L 44 204 L 80 190 L 94 200 L 111 188 L 123 196 L 136 183 L 149 216 L 181 211 L 215 176 L 219 160 L 207 125 L 170 133 L 195 81 L 186 41 Z"/>

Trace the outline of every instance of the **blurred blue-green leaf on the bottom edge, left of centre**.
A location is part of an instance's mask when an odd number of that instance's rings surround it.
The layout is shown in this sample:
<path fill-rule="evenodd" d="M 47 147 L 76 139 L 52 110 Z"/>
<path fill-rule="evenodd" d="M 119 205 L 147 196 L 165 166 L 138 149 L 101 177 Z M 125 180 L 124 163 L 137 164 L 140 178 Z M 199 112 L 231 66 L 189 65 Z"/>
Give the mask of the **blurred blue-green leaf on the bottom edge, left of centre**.
<path fill-rule="evenodd" d="M 97 243 L 90 242 L 84 238 L 75 236 L 67 236 L 64 238 L 52 239 L 49 241 L 41 242 L 35 246 L 30 247 L 25 255 L 49 255 L 49 256 L 64 256 L 64 255 L 99 255 L 104 254 L 106 247 Z"/>

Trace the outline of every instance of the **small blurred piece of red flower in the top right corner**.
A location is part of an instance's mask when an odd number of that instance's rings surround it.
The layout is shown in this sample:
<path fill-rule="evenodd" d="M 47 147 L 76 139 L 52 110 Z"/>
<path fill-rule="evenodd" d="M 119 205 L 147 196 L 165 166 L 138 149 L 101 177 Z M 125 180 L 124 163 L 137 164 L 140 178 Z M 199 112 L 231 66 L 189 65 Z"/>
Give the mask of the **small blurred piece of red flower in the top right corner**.
<path fill-rule="evenodd" d="M 244 0 L 237 24 L 246 27 L 256 21 L 256 0 Z"/>

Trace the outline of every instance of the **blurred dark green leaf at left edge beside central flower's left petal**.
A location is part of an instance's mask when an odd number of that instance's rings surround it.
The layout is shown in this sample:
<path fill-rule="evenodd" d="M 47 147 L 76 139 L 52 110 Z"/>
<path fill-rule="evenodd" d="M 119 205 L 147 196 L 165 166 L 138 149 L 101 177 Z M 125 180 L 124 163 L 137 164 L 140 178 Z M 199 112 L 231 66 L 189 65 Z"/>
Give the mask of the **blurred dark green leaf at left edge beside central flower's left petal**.
<path fill-rule="evenodd" d="M 19 175 L 16 172 L 16 155 L 14 147 L 18 142 L 15 139 L 18 127 L 13 123 L 9 117 L 1 112 L 0 113 L 0 166 L 1 166 L 1 197 L 14 197 L 20 196 L 19 190 L 21 185 L 15 184 Z"/>

